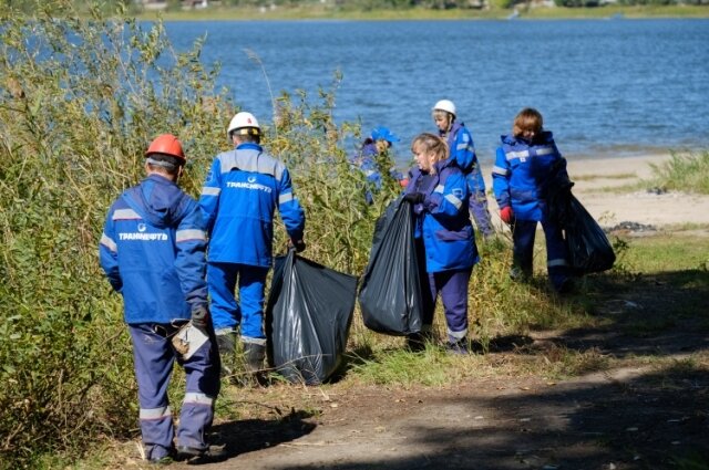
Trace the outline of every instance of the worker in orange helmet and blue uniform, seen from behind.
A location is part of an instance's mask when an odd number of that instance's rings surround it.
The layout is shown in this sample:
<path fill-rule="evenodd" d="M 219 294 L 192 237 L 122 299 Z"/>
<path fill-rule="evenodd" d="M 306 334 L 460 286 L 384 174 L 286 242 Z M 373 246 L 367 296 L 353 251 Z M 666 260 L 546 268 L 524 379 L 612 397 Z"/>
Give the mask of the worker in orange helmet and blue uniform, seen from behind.
<path fill-rule="evenodd" d="M 111 286 L 123 295 L 145 459 L 165 462 L 209 452 L 205 436 L 219 393 L 219 355 L 207 309 L 207 241 L 199 206 L 177 187 L 186 161 L 182 145 L 164 134 L 145 156 L 147 177 L 111 206 L 99 254 Z M 206 341 L 185 358 L 172 340 L 189 321 Z M 175 361 L 186 375 L 176 449 L 167 398 Z"/>

